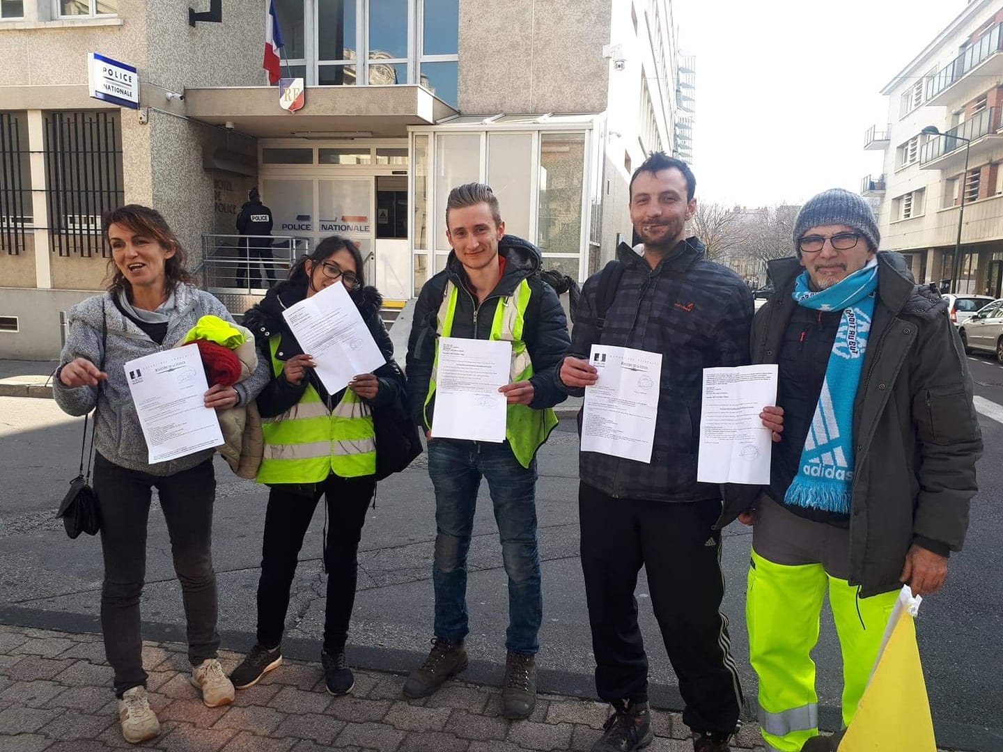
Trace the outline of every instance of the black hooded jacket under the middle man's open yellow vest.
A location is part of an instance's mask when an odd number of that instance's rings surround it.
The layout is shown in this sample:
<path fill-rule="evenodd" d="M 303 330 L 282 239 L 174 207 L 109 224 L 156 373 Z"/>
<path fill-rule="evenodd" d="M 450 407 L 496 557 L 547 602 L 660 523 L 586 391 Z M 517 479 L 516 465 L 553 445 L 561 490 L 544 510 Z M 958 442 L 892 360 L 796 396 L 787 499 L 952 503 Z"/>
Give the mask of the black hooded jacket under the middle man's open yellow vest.
<path fill-rule="evenodd" d="M 434 397 L 428 404 L 425 422 L 425 397 L 435 360 L 436 317 L 448 279 L 458 290 L 452 337 L 485 340 L 490 336 L 494 309 L 503 298 L 511 296 L 523 280 L 529 280 L 532 296 L 526 312 L 524 340 L 533 361 L 535 394 L 530 407 L 542 410 L 564 402 L 568 395 L 557 386 L 554 366 L 571 344 L 568 319 L 554 289 L 540 279 L 540 251 L 532 243 L 507 235 L 498 242 L 498 255 L 506 260 L 505 272 L 494 290 L 477 306 L 463 284 L 462 265 L 449 253 L 446 268 L 421 288 L 414 307 L 414 323 L 407 345 L 407 385 L 411 417 L 424 429 L 431 428 Z M 479 323 L 478 323 L 479 322 Z"/>

